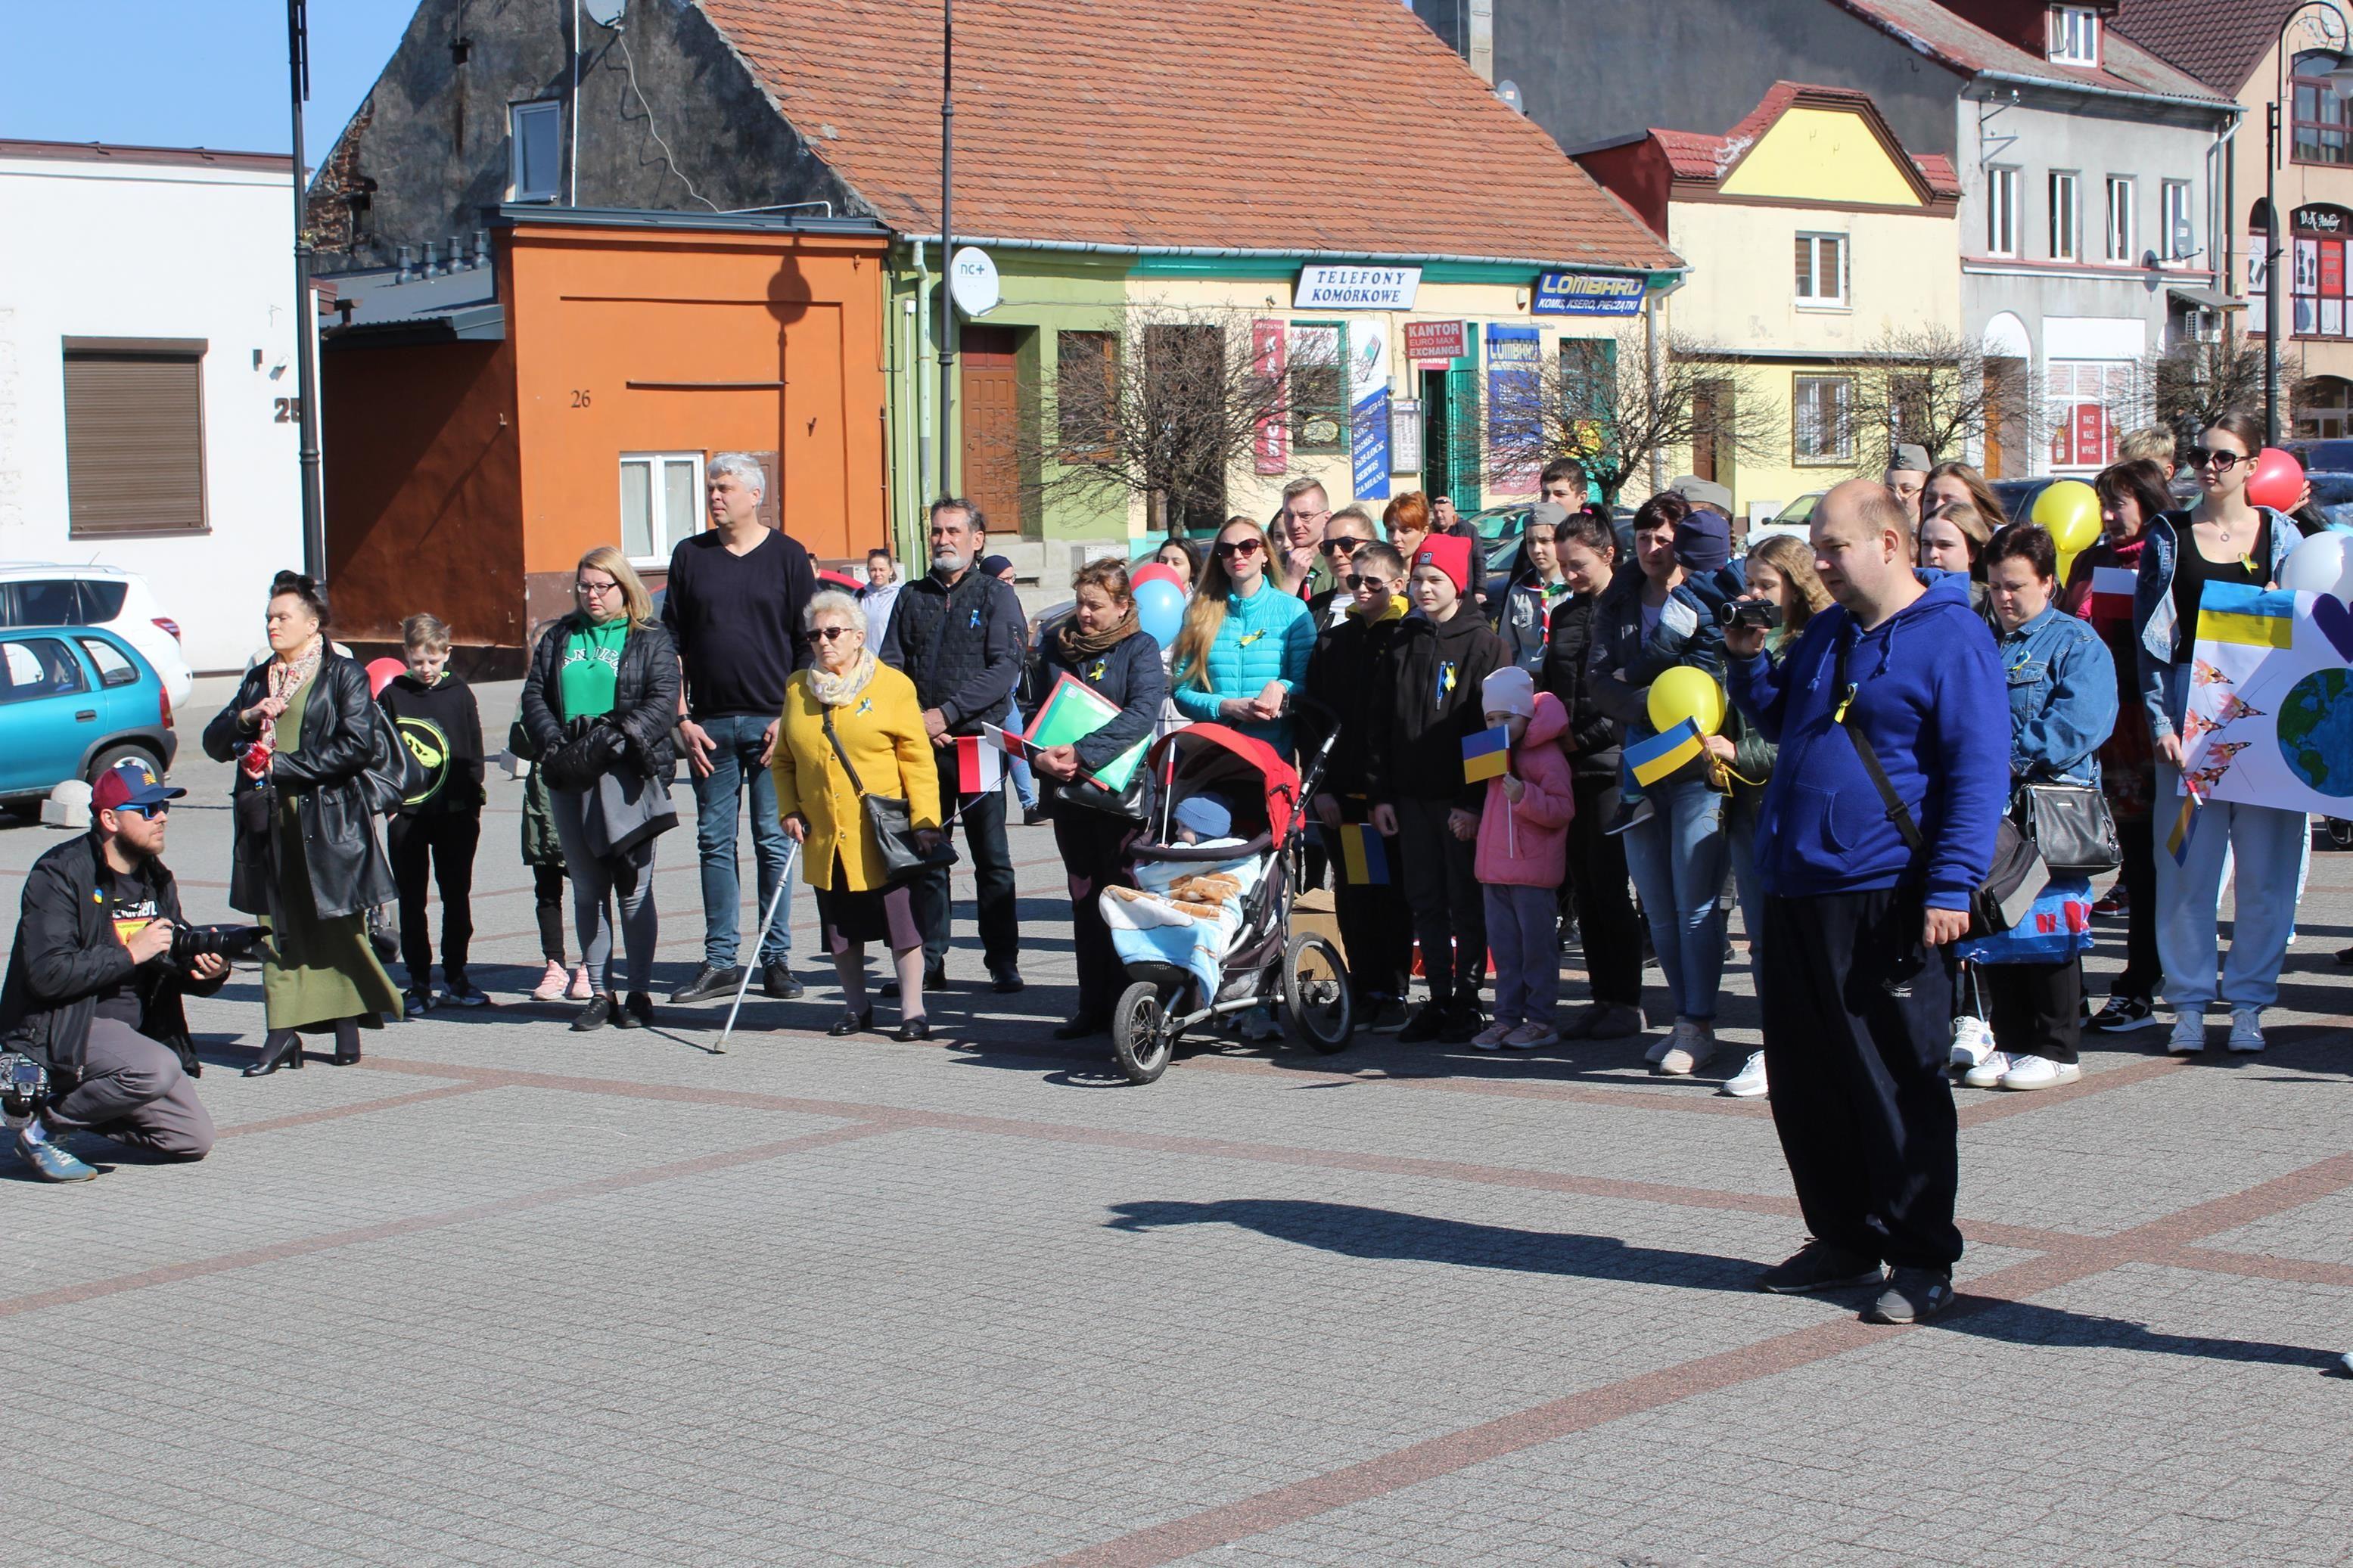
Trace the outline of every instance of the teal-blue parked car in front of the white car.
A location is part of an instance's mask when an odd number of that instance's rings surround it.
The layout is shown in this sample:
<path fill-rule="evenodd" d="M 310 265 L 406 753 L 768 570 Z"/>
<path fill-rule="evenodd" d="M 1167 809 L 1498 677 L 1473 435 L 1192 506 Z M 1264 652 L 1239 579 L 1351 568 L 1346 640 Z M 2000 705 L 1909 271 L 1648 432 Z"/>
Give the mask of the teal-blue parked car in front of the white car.
<path fill-rule="evenodd" d="M 176 755 L 172 691 L 127 637 L 94 625 L 0 632 L 0 804 L 40 802 L 132 757 L 162 773 Z"/>

